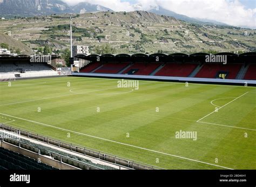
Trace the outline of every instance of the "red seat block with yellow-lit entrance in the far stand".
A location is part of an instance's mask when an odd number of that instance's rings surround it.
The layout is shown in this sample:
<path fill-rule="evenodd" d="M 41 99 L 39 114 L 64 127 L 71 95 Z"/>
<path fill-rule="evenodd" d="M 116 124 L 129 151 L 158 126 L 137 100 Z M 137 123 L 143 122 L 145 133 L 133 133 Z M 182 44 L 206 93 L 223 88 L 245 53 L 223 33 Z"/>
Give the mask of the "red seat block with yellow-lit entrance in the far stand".
<path fill-rule="evenodd" d="M 217 64 L 217 63 L 207 63 L 204 64 L 203 68 L 195 76 L 197 78 L 217 78 L 218 73 L 225 71 L 227 73 L 226 78 L 235 79 L 242 64 Z"/>

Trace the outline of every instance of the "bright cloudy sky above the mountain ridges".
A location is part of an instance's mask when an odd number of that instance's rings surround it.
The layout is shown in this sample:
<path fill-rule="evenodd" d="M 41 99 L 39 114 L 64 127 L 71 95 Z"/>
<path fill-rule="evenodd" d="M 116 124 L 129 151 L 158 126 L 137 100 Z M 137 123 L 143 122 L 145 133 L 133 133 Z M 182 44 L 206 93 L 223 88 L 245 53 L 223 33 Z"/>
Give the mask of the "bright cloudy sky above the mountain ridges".
<path fill-rule="evenodd" d="M 114 11 L 150 10 L 161 6 L 192 18 L 210 19 L 222 23 L 256 28 L 256 0 L 63 0 L 75 5 L 79 2 L 102 5 Z M 138 4 L 139 8 L 134 8 Z"/>

